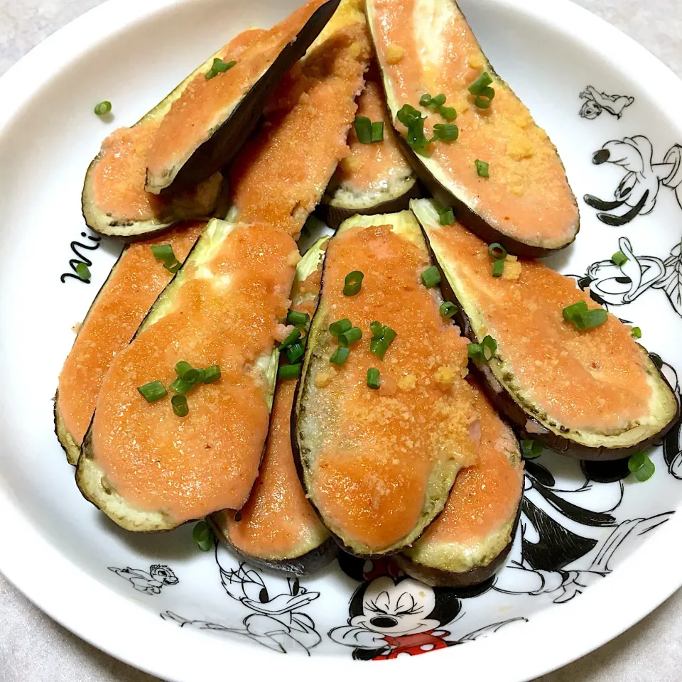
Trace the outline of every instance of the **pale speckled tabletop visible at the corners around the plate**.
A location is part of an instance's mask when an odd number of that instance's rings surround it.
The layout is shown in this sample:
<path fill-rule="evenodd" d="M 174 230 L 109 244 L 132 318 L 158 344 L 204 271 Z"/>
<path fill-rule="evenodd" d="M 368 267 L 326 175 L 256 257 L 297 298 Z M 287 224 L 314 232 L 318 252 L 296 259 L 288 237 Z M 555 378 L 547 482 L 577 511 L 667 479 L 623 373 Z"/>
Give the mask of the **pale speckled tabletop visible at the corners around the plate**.
<path fill-rule="evenodd" d="M 100 1 L 0 0 L 0 74 Z M 578 0 L 578 4 L 632 36 L 682 76 L 682 0 Z M 681 664 L 682 590 L 613 642 L 536 682 L 680 682 Z M 0 682 L 114 680 L 156 678 L 82 642 L 0 575 Z"/>

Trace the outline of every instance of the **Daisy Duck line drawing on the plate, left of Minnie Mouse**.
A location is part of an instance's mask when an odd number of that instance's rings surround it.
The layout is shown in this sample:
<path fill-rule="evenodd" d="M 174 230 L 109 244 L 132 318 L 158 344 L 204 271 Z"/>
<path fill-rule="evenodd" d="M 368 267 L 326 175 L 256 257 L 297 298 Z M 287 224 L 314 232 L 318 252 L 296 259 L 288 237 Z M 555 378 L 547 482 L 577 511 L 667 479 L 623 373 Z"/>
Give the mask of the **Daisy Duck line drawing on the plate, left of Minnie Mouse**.
<path fill-rule="evenodd" d="M 242 621 L 243 627 L 190 620 L 171 611 L 162 613 L 161 617 L 178 623 L 180 627 L 239 634 L 283 654 L 296 651 L 310 655 L 310 649 L 322 638 L 315 630 L 313 619 L 303 609 L 317 599 L 320 592 L 306 590 L 298 578 L 283 580 L 249 568 L 244 563 L 239 563 L 236 569 L 225 568 L 230 556 L 220 545 L 215 548 L 215 558 L 225 592 L 249 610 L 249 615 Z"/>

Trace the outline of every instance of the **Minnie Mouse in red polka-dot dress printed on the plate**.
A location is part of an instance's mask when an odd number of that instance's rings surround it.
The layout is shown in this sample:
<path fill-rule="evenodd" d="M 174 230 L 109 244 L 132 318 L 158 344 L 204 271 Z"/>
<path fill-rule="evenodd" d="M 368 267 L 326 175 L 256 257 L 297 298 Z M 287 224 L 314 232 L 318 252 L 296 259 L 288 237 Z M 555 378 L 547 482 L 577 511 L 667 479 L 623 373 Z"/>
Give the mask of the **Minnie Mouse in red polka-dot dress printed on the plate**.
<path fill-rule="evenodd" d="M 350 599 L 348 624 L 332 628 L 329 637 L 337 644 L 352 646 L 357 660 L 426 654 L 485 637 L 510 622 L 526 621 L 514 618 L 459 639 L 446 639 L 451 637 L 450 624 L 463 615 L 455 590 L 431 588 L 408 578 L 390 559 L 363 562 L 347 557 L 340 565 L 350 577 L 364 580 Z"/>

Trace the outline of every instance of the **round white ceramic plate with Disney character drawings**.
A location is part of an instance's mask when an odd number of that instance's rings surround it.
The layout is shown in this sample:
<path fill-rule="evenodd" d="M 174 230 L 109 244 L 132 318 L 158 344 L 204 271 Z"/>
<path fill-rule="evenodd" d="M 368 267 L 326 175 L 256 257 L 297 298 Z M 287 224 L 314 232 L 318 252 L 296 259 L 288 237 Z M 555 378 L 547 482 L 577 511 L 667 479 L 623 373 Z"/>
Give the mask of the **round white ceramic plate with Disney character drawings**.
<path fill-rule="evenodd" d="M 0 570 L 81 637 L 172 680 L 336 680 L 359 673 L 351 654 L 395 656 L 384 665 L 396 680 L 453 669 L 497 682 L 534 678 L 615 637 L 682 583 L 679 426 L 652 455 L 656 475 L 646 483 L 597 482 L 603 470 L 586 473 L 551 453 L 531 462 L 507 568 L 491 589 L 461 599 L 376 581 L 381 566 L 346 575 L 335 563 L 301 583 L 239 571 L 222 548 L 197 551 L 189 527 L 126 534 L 80 497 L 53 434 L 51 399 L 71 327 L 120 248 L 85 229 L 87 163 L 109 131 L 138 119 L 206 55 L 295 4 L 111 0 L 0 80 Z M 679 396 L 682 128 L 672 114 L 682 111 L 681 83 L 563 0 L 462 0 L 462 9 L 558 146 L 579 197 L 578 241 L 551 264 L 642 328 Z M 101 99 L 113 102 L 112 121 L 92 114 Z M 593 163 L 597 151 L 602 163 Z M 600 211 L 585 195 L 624 203 Z M 600 217 L 626 212 L 617 226 Z M 75 257 L 71 242 L 99 244 L 80 249 L 92 260 L 90 285 L 60 281 Z M 617 249 L 629 255 L 622 271 L 609 260 Z M 357 593 L 352 599 L 358 588 L 385 592 L 389 613 L 411 592 L 435 632 L 415 615 L 396 617 L 392 630 L 372 625 Z M 389 631 L 411 639 L 384 638 Z"/>

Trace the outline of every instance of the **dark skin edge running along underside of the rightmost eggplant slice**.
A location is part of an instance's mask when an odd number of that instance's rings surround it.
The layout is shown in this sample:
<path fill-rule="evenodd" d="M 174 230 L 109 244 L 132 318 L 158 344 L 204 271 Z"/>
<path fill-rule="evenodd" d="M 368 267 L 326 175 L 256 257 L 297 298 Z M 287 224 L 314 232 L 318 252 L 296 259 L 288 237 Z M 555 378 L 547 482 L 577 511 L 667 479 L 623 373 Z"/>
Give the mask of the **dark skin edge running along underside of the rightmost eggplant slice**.
<path fill-rule="evenodd" d="M 419 210 L 419 202 L 412 205 L 412 210 L 417 215 L 418 220 L 421 221 L 420 215 L 423 212 Z M 428 249 L 431 252 L 431 257 L 433 262 L 438 267 L 440 272 L 440 288 L 443 291 L 443 298 L 446 301 L 455 303 L 458 308 L 458 312 L 455 313 L 453 321 L 462 330 L 462 333 L 472 342 L 478 343 L 481 340 L 477 337 L 476 332 L 473 328 L 469 315 L 466 313 L 465 305 L 462 301 L 455 295 L 453 286 L 448 281 L 448 276 L 443 269 L 443 265 L 440 263 L 438 256 L 433 251 L 431 247 L 431 242 L 428 239 L 428 233 L 426 229 L 422 229 L 426 237 L 426 242 L 428 244 Z M 570 438 L 570 430 L 561 426 L 556 425 L 557 431 L 552 431 L 551 428 L 545 426 L 541 421 L 536 418 L 536 414 L 532 411 L 533 406 L 529 406 L 528 409 L 524 408 L 518 401 L 514 399 L 509 393 L 507 388 L 502 385 L 502 383 L 495 377 L 489 364 L 477 365 L 470 361 L 470 371 L 479 381 L 481 388 L 485 392 L 487 398 L 492 403 L 494 408 L 501 413 L 505 418 L 509 420 L 514 430 L 521 438 L 531 438 L 533 440 L 538 440 L 546 448 L 551 450 L 556 450 L 556 452 L 567 455 L 569 457 L 579 459 L 579 460 L 589 460 L 594 462 L 607 461 L 607 460 L 619 460 L 622 458 L 627 458 L 630 455 L 638 453 L 644 448 L 648 448 L 650 445 L 654 445 L 657 441 L 673 428 L 674 424 L 680 418 L 680 406 L 675 399 L 673 389 L 671 388 L 668 380 L 662 374 L 656 364 L 649 357 L 649 352 L 642 346 L 639 348 L 644 354 L 644 365 L 649 376 L 654 377 L 654 380 L 659 383 L 659 387 L 664 389 L 669 395 L 666 396 L 666 404 L 672 406 L 674 404 L 674 410 L 671 412 L 671 418 L 669 418 L 666 423 L 661 425 L 659 431 L 653 433 L 646 438 L 637 441 L 637 443 L 632 443 L 631 445 L 613 447 L 607 444 L 609 436 L 603 435 L 604 445 L 585 445 L 585 443 L 580 443 L 573 438 Z"/>

